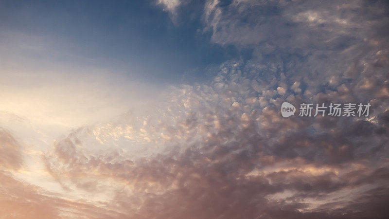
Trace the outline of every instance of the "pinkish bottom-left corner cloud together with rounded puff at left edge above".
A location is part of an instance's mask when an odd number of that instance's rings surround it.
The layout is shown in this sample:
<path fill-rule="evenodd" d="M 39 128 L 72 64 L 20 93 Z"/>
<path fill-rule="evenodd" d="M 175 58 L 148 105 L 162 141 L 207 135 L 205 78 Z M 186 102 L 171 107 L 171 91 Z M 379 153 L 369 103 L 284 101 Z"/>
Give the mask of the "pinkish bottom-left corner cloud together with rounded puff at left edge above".
<path fill-rule="evenodd" d="M 0 128 L 0 214 L 3 218 L 118 218 L 121 214 L 69 201 L 13 176 L 23 166 L 22 148 L 11 133 Z M 71 210 L 70 210 L 71 209 Z"/>

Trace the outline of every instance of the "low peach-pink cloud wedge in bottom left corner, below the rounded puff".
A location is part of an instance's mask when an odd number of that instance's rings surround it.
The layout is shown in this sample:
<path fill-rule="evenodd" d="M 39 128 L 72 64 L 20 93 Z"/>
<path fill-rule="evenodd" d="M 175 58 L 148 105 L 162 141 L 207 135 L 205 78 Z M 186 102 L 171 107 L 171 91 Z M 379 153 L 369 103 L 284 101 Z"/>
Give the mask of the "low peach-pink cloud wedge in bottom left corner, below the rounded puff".
<path fill-rule="evenodd" d="M 0 173 L 0 214 L 3 218 L 121 218 L 120 213 L 44 194 L 42 188 Z M 42 194 L 43 193 L 43 194 Z M 47 193 L 47 192 L 46 192 Z"/>

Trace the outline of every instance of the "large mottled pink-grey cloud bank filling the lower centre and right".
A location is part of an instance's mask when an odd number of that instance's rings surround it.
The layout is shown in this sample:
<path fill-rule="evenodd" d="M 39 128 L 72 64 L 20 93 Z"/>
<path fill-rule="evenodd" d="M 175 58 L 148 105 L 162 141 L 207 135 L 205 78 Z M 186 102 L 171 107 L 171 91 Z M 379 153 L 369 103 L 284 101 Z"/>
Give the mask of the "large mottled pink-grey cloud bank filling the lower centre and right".
<path fill-rule="evenodd" d="M 370 198 L 355 206 L 372 188 L 379 197 L 388 188 L 385 112 L 368 120 L 282 118 L 278 79 L 258 69 L 226 63 L 209 84 L 172 88 L 167 104 L 75 131 L 44 156 L 47 168 L 69 188 L 112 191 L 106 207 L 130 218 L 376 214 Z M 261 106 L 258 96 L 269 104 Z M 103 146 L 88 145 L 93 138 Z M 149 153 L 134 158 L 137 145 Z M 96 146 L 110 149 L 88 149 Z"/>

